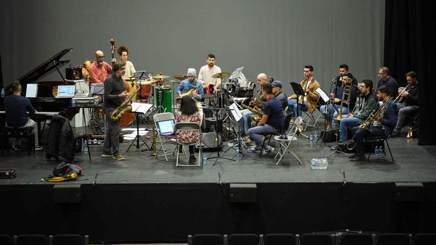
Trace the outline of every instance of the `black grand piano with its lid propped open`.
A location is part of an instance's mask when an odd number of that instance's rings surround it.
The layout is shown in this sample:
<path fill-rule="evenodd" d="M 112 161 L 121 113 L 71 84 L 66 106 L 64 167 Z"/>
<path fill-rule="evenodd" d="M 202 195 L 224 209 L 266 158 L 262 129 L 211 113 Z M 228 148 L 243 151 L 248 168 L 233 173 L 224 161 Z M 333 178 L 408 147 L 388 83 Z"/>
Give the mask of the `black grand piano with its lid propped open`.
<path fill-rule="evenodd" d="M 53 115 L 60 114 L 69 120 L 71 120 L 74 115 L 79 112 L 78 108 L 71 108 L 71 98 L 54 98 L 53 89 L 59 85 L 74 85 L 72 82 L 66 82 L 62 75 L 60 74 L 58 68 L 69 63 L 69 60 L 60 60 L 66 53 L 71 49 L 63 49 L 62 51 L 56 53 L 53 57 L 47 59 L 42 64 L 40 64 L 35 69 L 27 72 L 24 76 L 18 78 L 21 84 L 21 96 L 26 96 L 27 84 L 37 83 L 38 84 L 38 94 L 37 98 L 29 98 L 33 107 L 38 111 L 31 118 L 36 122 L 43 122 L 47 119 L 51 119 Z M 52 72 L 57 70 L 61 79 L 58 81 L 38 81 L 50 75 Z M 5 95 L 8 96 L 12 94 L 10 90 L 10 85 L 4 88 Z M 0 98 L 0 128 L 5 126 L 5 114 L 3 98 Z M 39 124 L 38 124 L 39 126 Z M 40 126 L 38 127 L 40 130 Z M 41 134 L 40 134 L 41 135 Z"/>

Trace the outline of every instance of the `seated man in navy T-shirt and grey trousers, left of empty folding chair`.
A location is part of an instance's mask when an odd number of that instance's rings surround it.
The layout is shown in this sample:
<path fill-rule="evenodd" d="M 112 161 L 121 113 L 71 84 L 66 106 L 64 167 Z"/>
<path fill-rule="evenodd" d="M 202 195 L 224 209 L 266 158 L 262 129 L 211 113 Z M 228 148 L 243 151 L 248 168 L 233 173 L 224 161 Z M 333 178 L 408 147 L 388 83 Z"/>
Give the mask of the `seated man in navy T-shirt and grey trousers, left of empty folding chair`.
<path fill-rule="evenodd" d="M 280 101 L 272 95 L 272 85 L 270 83 L 262 87 L 262 95 L 267 99 L 267 102 L 264 106 L 264 115 L 258 126 L 248 130 L 250 139 L 256 144 L 248 149 L 249 152 L 260 152 L 263 142 L 261 134 L 279 132 L 283 126 L 283 108 Z M 263 147 L 262 153 L 264 155 L 274 150 L 274 147 L 268 146 L 267 142 L 264 142 Z"/>

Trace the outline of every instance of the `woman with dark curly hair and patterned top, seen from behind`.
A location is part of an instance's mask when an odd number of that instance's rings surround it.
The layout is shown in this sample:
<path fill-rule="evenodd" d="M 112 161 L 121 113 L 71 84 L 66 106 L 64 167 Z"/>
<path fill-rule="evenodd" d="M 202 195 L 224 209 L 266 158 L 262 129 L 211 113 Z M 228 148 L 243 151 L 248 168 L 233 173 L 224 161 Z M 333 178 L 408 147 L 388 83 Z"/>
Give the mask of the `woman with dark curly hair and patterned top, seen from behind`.
<path fill-rule="evenodd" d="M 184 96 L 180 101 L 180 111 L 175 117 L 176 122 L 196 122 L 200 124 L 200 113 L 197 103 L 191 96 Z M 200 140 L 198 131 L 179 130 L 177 140 L 183 144 L 193 144 Z M 181 146 L 180 146 L 181 147 Z M 197 158 L 194 156 L 194 146 L 189 146 L 189 163 L 195 163 Z"/>

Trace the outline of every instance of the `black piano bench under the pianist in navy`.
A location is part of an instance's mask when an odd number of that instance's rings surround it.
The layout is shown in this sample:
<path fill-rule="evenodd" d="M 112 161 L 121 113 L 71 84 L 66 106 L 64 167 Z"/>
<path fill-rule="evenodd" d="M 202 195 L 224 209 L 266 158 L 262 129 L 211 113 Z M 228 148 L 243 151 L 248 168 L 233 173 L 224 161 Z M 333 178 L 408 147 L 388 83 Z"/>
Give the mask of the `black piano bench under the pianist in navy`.
<path fill-rule="evenodd" d="M 6 147 L 7 153 L 9 153 L 9 138 L 25 138 L 27 139 L 27 156 L 30 156 L 30 150 L 33 149 L 35 153 L 35 133 L 33 127 L 26 128 L 3 128 L 0 131 L 1 142 L 1 155 Z"/>

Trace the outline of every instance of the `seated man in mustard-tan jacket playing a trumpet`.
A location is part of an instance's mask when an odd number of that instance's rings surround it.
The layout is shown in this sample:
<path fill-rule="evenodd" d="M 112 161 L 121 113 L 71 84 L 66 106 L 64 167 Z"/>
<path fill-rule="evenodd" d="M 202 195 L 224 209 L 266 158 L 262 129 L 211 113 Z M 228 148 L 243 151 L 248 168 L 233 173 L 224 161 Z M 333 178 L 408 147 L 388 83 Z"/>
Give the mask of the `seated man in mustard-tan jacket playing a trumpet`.
<path fill-rule="evenodd" d="M 286 113 L 288 115 L 294 113 L 294 118 L 301 116 L 302 110 L 309 112 L 315 111 L 317 109 L 318 98 L 320 97 L 320 94 L 316 91 L 320 88 L 320 84 L 313 77 L 313 66 L 305 65 L 303 75 L 305 79 L 300 82 L 300 85 L 303 88 L 304 96 L 298 98 L 298 104 L 296 94 L 288 97 L 288 109 Z"/>

